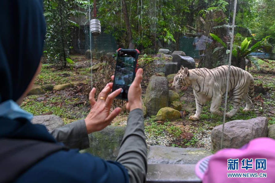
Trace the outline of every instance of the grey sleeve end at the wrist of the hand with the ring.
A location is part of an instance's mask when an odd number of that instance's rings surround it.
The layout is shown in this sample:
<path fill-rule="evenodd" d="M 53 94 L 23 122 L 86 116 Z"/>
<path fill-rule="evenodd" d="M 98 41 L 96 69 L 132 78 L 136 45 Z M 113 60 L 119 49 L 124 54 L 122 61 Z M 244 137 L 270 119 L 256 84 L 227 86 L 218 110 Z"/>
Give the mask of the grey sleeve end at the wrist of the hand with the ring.
<path fill-rule="evenodd" d="M 57 142 L 62 142 L 70 148 L 82 150 L 90 145 L 84 119 L 55 128 L 50 131 L 50 134 L 53 135 Z"/>

